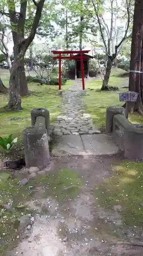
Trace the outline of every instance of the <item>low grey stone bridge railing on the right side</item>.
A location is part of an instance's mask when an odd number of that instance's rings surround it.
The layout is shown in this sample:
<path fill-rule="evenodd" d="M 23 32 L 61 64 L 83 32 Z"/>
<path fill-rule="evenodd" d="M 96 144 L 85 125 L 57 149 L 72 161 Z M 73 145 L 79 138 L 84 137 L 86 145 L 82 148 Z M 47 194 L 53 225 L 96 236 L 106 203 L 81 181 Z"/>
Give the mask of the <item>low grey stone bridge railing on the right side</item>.
<path fill-rule="evenodd" d="M 106 133 L 124 151 L 128 159 L 143 159 L 143 128 L 136 127 L 124 116 L 122 107 L 109 106 L 106 110 Z"/>

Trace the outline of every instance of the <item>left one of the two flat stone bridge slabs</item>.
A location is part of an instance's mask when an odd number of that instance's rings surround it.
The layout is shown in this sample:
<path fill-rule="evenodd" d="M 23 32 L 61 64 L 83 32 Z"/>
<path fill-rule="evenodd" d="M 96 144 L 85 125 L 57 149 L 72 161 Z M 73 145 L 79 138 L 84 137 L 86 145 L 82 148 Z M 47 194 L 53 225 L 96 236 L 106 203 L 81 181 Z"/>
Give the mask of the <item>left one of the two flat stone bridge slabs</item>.
<path fill-rule="evenodd" d="M 64 135 L 59 137 L 52 149 L 52 155 L 54 156 L 81 156 L 83 154 L 84 147 L 79 135 Z"/>

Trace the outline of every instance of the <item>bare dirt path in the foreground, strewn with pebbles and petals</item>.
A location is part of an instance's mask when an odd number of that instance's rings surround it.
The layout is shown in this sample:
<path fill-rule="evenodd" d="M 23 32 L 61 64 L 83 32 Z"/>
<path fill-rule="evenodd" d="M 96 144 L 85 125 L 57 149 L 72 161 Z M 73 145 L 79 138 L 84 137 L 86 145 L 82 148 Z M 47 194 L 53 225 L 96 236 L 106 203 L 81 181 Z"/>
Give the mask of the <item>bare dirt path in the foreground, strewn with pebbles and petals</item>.
<path fill-rule="evenodd" d="M 6 256 L 133 256 L 143 255 L 140 230 L 128 227 L 120 205 L 107 210 L 96 196 L 96 185 L 110 176 L 112 164 L 122 156 L 61 157 L 54 170 L 68 168 L 83 180 L 76 198 L 62 202 L 42 198 L 42 188 L 27 205 L 36 213 L 30 230 L 23 230 L 17 247 Z M 66 188 L 73 189 L 71 187 Z"/>

